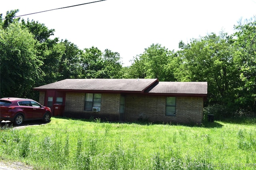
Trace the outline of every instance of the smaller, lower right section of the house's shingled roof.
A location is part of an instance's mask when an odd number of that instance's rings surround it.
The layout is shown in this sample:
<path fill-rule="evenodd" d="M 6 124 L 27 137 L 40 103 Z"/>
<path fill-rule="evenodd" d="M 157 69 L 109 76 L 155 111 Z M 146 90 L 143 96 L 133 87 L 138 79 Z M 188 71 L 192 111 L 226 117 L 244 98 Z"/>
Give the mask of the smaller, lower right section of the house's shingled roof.
<path fill-rule="evenodd" d="M 207 94 L 207 82 L 159 82 L 148 93 Z"/>

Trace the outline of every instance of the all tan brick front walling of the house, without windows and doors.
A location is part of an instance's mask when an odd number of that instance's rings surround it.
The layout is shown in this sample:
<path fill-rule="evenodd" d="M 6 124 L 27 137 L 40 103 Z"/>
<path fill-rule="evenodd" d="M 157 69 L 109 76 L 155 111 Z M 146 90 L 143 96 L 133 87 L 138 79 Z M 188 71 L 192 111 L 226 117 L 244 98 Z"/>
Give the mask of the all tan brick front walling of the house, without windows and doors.
<path fill-rule="evenodd" d="M 120 94 L 102 94 L 99 112 L 84 111 L 85 93 L 66 93 L 64 116 L 74 118 L 101 118 L 109 121 L 119 120 Z M 41 98 L 41 93 L 40 93 Z M 40 100 L 44 100 L 43 98 Z M 176 115 L 165 115 L 166 96 L 142 94 L 126 95 L 126 121 L 144 119 L 165 123 L 201 123 L 203 118 L 202 97 L 177 97 Z"/>

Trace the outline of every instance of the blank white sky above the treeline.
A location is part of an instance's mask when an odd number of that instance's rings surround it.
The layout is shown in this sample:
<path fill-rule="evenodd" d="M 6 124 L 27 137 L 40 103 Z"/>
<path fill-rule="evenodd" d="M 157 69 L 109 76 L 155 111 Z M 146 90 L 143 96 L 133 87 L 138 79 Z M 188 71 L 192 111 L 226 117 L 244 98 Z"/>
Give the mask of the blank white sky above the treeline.
<path fill-rule="evenodd" d="M 5 0 L 0 14 L 19 9 L 18 16 L 93 1 Z M 22 18 L 44 23 L 55 29 L 54 37 L 80 49 L 94 46 L 118 52 L 128 66 L 152 43 L 176 51 L 181 40 L 187 43 L 222 29 L 231 34 L 240 18 L 254 15 L 256 0 L 106 0 Z"/>

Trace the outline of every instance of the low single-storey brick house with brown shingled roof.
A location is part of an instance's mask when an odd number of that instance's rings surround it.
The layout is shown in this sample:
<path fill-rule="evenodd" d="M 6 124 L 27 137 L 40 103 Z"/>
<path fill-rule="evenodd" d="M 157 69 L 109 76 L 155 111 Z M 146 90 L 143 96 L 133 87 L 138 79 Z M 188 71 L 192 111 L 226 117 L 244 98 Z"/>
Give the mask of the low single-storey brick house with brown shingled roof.
<path fill-rule="evenodd" d="M 36 87 L 39 102 L 63 116 L 109 121 L 201 123 L 207 82 L 158 79 L 65 79 Z"/>

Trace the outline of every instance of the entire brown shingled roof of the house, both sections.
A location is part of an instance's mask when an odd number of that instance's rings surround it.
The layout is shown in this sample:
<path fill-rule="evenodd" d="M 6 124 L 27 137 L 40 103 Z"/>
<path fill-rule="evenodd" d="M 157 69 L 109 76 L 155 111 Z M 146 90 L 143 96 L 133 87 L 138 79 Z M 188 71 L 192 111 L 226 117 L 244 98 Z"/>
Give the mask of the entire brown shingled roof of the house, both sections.
<path fill-rule="evenodd" d="M 158 82 L 158 79 L 66 79 L 34 90 L 78 90 L 104 92 L 138 92 L 206 96 L 207 82 Z"/>

